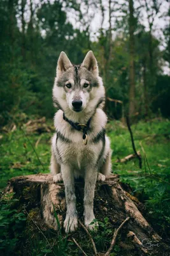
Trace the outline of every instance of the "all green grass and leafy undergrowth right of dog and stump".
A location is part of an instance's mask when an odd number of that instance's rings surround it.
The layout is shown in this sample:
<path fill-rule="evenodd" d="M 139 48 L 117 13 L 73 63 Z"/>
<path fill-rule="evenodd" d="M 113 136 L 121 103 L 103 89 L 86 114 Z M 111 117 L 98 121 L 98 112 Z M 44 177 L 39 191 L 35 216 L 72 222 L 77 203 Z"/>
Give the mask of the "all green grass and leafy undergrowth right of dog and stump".
<path fill-rule="evenodd" d="M 131 185 L 133 195 L 145 203 L 149 212 L 147 218 L 152 225 L 167 233 L 170 227 L 170 122 L 156 118 L 152 122 L 132 125 L 136 148 L 142 152 L 142 170 L 138 167 L 138 159 L 125 164 L 115 163 L 116 159 L 133 153 L 130 134 L 120 122 L 111 122 L 108 129 L 113 149 L 113 172 L 120 174 L 120 179 Z"/>

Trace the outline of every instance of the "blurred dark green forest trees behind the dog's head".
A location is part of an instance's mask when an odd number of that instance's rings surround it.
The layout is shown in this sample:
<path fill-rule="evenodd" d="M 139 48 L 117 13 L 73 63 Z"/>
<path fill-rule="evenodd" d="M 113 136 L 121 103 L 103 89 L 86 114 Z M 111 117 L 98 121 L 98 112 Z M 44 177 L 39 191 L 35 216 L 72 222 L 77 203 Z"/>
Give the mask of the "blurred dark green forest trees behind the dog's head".
<path fill-rule="evenodd" d="M 92 17 L 100 11 L 103 1 L 90 2 L 90 12 L 94 13 L 89 12 L 89 2 L 83 0 L 33 2 L 13 0 L 8 4 L 1 0 L 0 3 L 1 125 L 9 122 L 9 116 L 21 112 L 52 118 L 52 86 L 60 51 L 66 51 L 71 61 L 78 64 L 92 49 L 107 97 L 122 100 L 127 111 L 130 86 L 127 3 L 123 1 L 118 8 L 122 18 L 112 22 L 112 31 L 117 31 L 117 36 L 110 42 L 110 29 L 99 28 L 96 35 L 92 35 L 90 28 Z M 85 15 L 80 6 L 87 9 Z M 151 9 L 155 10 L 154 6 L 151 4 Z M 149 116 L 151 111 L 157 115 L 159 109 L 163 116 L 169 116 L 169 76 L 162 72 L 164 60 L 169 61 L 169 24 L 164 30 L 166 49 L 160 51 L 161 40 L 150 35 L 140 22 L 141 8 L 134 8 L 136 111 L 140 113 L 139 118 Z M 114 11 L 111 10 L 113 17 Z M 68 17 L 72 16 L 69 14 L 76 15 L 76 28 L 69 21 Z M 169 12 L 164 15 L 168 17 Z M 108 100 L 106 110 L 116 119 L 123 115 L 122 104 L 113 101 Z"/>

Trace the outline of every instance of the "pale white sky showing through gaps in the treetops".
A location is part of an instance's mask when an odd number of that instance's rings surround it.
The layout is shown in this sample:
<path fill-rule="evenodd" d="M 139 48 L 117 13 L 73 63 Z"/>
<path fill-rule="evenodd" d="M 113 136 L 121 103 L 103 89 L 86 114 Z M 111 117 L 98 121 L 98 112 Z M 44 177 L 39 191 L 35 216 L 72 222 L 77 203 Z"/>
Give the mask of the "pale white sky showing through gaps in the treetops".
<path fill-rule="evenodd" d="M 144 1 L 145 0 L 134 0 L 134 9 L 136 10 L 137 8 L 139 8 L 139 6 L 144 4 Z M 33 8 L 38 8 L 41 6 L 42 3 L 46 3 L 46 2 L 47 0 L 43 2 L 39 0 L 33 0 Z M 50 0 L 50 3 L 53 3 L 53 2 L 54 0 Z M 125 2 L 127 2 L 127 5 L 128 5 L 128 0 L 118 0 L 118 3 L 120 4 Z M 99 36 L 99 29 L 101 28 L 101 20 L 102 20 L 102 13 L 99 6 L 99 1 L 94 1 L 94 0 L 88 1 L 89 6 L 85 5 L 81 0 L 77 0 L 77 3 L 81 3 L 80 5 L 81 12 L 83 13 L 82 22 L 80 22 L 80 19 L 78 17 L 78 12 L 76 12 L 73 8 L 70 8 L 70 10 L 69 8 L 67 8 L 67 11 L 66 11 L 67 20 L 69 20 L 69 22 L 73 24 L 74 28 L 79 28 L 80 31 L 84 30 L 87 24 L 90 24 L 89 26 L 90 40 L 92 41 L 97 40 L 97 36 Z M 109 28 L 109 11 L 108 11 L 109 0 L 102 0 L 102 3 L 104 6 L 103 29 L 108 29 Z M 169 24 L 170 22 L 169 17 L 165 17 L 167 10 L 169 9 L 170 1 L 168 3 L 166 0 L 163 0 L 163 1 L 159 0 L 159 3 L 161 3 L 161 6 L 160 6 L 160 11 L 156 15 L 155 20 L 153 22 L 153 35 L 160 40 L 161 42 L 160 49 L 163 50 L 166 47 L 163 31 L 164 31 L 164 28 L 166 27 L 166 24 Z M 29 4 L 30 2 L 28 1 L 25 8 L 26 12 L 24 15 L 24 18 L 27 22 L 29 21 L 29 17 L 30 17 Z M 63 3 L 63 6 L 64 5 L 65 3 Z M 114 3 L 111 4 L 111 8 L 114 11 L 114 8 L 115 8 Z M 65 7 L 63 7 L 63 9 L 65 9 Z M 142 7 L 139 12 L 140 12 L 140 15 L 138 17 L 139 23 L 143 24 L 143 26 L 145 26 L 146 31 L 148 31 L 149 27 L 148 27 L 148 19 L 147 19 L 147 13 L 146 13 L 145 7 Z M 121 10 L 118 12 L 113 12 L 112 14 L 111 24 L 113 28 L 115 27 L 115 17 L 119 15 L 122 15 Z M 18 19 L 18 26 L 21 28 L 20 19 Z M 41 35 L 45 36 L 46 31 L 41 31 Z M 112 31 L 112 37 L 115 38 L 116 35 L 117 35 L 117 31 Z M 164 73 L 170 74 L 169 67 L 168 65 L 166 65 L 166 63 L 164 67 Z"/>

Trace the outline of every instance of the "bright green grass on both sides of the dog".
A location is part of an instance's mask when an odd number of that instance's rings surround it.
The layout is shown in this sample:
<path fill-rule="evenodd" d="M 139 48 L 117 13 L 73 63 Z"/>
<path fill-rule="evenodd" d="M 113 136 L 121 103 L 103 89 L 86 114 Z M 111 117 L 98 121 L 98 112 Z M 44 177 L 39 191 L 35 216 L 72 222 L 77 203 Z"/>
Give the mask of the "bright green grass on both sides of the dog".
<path fill-rule="evenodd" d="M 132 131 L 136 149 L 140 150 L 143 155 L 141 146 L 143 147 L 151 168 L 162 170 L 162 172 L 164 172 L 164 168 L 169 170 L 169 120 L 162 120 L 162 122 L 159 120 L 147 123 L 139 122 L 138 124 L 132 125 Z M 115 163 L 118 158 L 121 159 L 134 153 L 127 127 L 118 121 L 110 122 L 108 124 L 107 133 L 110 137 L 111 148 L 113 150 L 113 172 L 119 173 L 123 178 L 124 175 L 127 175 L 126 171 L 138 171 L 138 159 L 134 159 L 133 161 L 129 161 L 124 164 Z M 0 140 L 0 188 L 4 188 L 6 181 L 11 177 L 49 172 L 50 139 L 52 137 L 50 132 L 46 132 L 41 135 L 36 133 L 27 134 L 32 145 L 36 149 L 44 168 L 39 163 L 31 144 L 22 131 L 17 129 L 8 134 L 3 133 L 1 136 L 3 137 Z M 41 136 L 41 140 L 36 148 L 36 142 L 38 141 L 39 136 Z M 143 171 L 145 171 L 144 163 Z M 162 175 L 163 174 L 164 173 L 162 173 Z"/>

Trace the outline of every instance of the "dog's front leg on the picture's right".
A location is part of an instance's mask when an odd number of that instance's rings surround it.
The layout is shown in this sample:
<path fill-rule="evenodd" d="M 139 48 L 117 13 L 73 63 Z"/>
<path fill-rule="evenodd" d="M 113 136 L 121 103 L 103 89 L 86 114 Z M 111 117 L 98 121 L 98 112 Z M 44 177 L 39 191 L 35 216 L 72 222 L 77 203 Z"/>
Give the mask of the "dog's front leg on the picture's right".
<path fill-rule="evenodd" d="M 96 186 L 97 169 L 89 166 L 85 172 L 85 196 L 84 196 L 84 217 L 85 226 L 92 229 L 94 225 L 89 225 L 94 216 L 94 189 Z"/>

